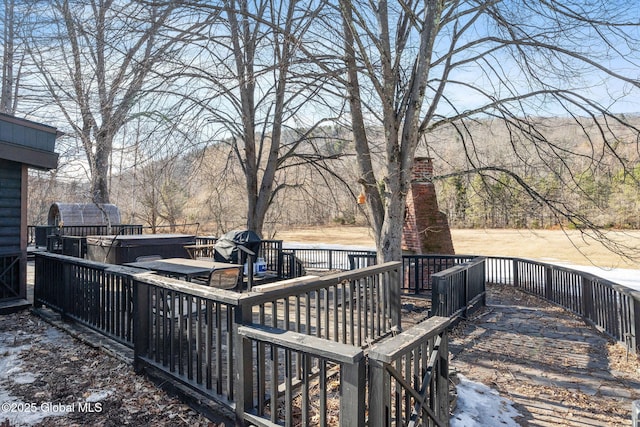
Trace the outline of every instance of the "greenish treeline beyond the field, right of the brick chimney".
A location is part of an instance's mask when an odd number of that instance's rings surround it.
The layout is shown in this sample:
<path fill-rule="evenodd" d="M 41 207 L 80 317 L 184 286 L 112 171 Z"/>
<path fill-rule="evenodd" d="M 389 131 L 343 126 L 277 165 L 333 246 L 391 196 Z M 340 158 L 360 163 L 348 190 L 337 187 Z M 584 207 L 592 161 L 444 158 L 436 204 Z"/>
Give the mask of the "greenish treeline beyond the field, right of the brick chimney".
<path fill-rule="evenodd" d="M 440 210 L 454 228 L 580 227 L 640 229 L 640 165 L 573 176 L 463 174 L 436 181 Z M 533 193 L 533 194 L 532 194 Z M 562 207 L 573 213 L 557 214 Z"/>

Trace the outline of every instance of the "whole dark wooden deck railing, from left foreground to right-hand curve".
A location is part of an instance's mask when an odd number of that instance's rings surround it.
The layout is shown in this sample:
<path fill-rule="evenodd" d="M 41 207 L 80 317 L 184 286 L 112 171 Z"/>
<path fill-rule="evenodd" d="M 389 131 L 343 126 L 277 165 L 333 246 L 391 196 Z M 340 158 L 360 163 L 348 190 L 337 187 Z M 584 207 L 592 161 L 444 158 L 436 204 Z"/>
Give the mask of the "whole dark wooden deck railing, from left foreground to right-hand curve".
<path fill-rule="evenodd" d="M 379 403 L 392 408 L 380 418 L 391 417 L 390 424 L 412 417 L 438 424 L 446 322 L 428 319 L 422 329 L 392 338 L 401 331 L 400 283 L 406 275 L 403 264 L 387 263 L 239 294 L 39 253 L 35 299 L 36 305 L 133 346 L 138 371 L 186 384 L 247 423 L 289 424 L 299 410 L 329 420 L 335 416 L 329 402 L 336 401 L 345 408 L 345 415 L 338 414 L 340 425 L 361 425 L 365 413 L 374 425 Z M 483 302 L 485 281 L 491 280 L 562 304 L 640 351 L 640 293 L 593 275 L 480 257 L 435 272 L 431 280 L 432 315 L 464 315 Z M 369 356 L 362 359 L 365 347 Z M 349 390 L 349 396 L 332 394 L 336 387 Z M 367 393 L 373 400 L 365 400 Z M 271 402 L 278 411 L 271 410 Z M 428 409 L 415 402 L 428 402 Z M 311 409 L 318 404 L 324 409 Z M 358 409 L 347 412 L 347 407 Z"/>

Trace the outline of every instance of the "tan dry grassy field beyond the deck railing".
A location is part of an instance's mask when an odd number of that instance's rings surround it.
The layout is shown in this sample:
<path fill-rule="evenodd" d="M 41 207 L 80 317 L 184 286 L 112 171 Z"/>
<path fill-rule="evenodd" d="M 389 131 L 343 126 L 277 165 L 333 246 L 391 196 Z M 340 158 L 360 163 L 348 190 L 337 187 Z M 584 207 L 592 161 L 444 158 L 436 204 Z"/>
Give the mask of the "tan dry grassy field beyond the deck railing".
<path fill-rule="evenodd" d="M 513 256 L 605 268 L 640 269 L 640 231 L 609 231 L 604 235 L 609 246 L 615 242 L 624 256 L 579 231 L 452 230 L 451 234 L 458 254 Z M 279 231 L 275 238 L 285 242 L 375 246 L 366 227 L 292 229 Z"/>

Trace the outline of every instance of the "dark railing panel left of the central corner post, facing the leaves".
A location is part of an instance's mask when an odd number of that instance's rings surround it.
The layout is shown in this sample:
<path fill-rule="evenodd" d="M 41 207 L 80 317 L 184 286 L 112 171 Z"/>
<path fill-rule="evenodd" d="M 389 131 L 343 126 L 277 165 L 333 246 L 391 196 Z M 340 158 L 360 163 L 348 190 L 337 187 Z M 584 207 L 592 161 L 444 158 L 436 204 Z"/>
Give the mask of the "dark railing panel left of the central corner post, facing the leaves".
<path fill-rule="evenodd" d="M 134 363 L 230 405 L 238 293 L 147 275 L 135 280 Z"/>

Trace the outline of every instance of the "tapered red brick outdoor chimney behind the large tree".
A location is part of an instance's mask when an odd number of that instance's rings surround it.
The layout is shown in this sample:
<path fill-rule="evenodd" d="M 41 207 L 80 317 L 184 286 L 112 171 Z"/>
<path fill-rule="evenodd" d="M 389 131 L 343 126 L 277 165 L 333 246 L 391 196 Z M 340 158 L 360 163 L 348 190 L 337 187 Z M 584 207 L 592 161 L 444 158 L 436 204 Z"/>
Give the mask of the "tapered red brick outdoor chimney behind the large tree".
<path fill-rule="evenodd" d="M 417 255 L 455 254 L 447 216 L 438 209 L 432 159 L 417 157 L 411 175 L 402 250 Z"/>

